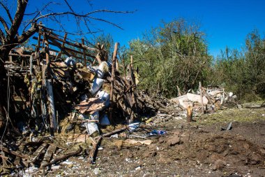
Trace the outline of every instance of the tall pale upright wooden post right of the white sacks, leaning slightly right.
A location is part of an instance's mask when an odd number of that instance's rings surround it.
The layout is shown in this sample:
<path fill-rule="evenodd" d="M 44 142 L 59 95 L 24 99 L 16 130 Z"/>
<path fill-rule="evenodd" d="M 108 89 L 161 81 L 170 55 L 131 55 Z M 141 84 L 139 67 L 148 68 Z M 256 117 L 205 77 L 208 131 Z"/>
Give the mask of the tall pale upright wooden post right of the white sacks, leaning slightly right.
<path fill-rule="evenodd" d="M 118 52 L 118 46 L 119 43 L 115 43 L 114 46 L 114 52 L 112 56 L 112 80 L 110 83 L 110 95 L 109 95 L 109 101 L 110 101 L 110 107 L 109 107 L 109 120 L 110 122 L 113 122 L 112 119 L 112 111 L 113 111 L 113 90 L 114 90 L 114 82 L 115 82 L 115 69 L 116 69 L 116 56 Z"/>

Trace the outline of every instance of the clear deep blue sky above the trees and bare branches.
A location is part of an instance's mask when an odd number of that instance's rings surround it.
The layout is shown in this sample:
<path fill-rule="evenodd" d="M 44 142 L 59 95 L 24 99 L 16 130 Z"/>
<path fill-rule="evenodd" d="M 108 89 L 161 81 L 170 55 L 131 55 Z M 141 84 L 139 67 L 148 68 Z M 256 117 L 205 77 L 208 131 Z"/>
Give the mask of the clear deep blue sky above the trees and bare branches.
<path fill-rule="evenodd" d="M 47 3 L 43 1 L 29 1 L 27 13 L 31 13 L 36 9 L 40 10 L 40 6 Z M 65 11 L 67 8 L 64 1 L 53 0 L 59 2 L 54 5 L 56 11 Z M 93 6 L 87 3 L 89 0 L 70 1 L 68 3 L 72 8 L 79 12 L 89 12 L 97 9 L 109 10 L 137 10 L 130 14 L 96 14 L 95 17 L 102 17 L 105 20 L 115 22 L 123 27 L 124 30 L 117 29 L 112 25 L 102 22 L 91 22 L 91 27 L 104 30 L 105 34 L 111 34 L 114 41 L 127 45 L 128 41 L 134 38 L 141 38 L 146 30 L 151 27 L 158 27 L 160 22 L 170 22 L 178 17 L 184 17 L 188 21 L 197 21 L 201 25 L 202 31 L 206 32 L 206 40 L 209 43 L 209 53 L 218 55 L 220 50 L 229 48 L 242 48 L 245 37 L 253 29 L 259 29 L 260 34 L 264 36 L 265 32 L 265 0 L 211 0 L 211 1 L 144 1 L 144 0 L 93 0 Z M 8 0 L 8 6 L 13 7 L 15 12 L 15 0 Z M 3 9 L 1 9 L 0 15 Z M 53 24 L 47 24 L 48 27 L 56 28 Z M 76 25 L 63 20 L 63 26 L 67 31 L 75 31 Z M 85 29 L 85 28 L 84 28 Z M 86 31 L 84 31 L 86 32 Z M 90 36 L 86 36 L 89 38 Z"/>

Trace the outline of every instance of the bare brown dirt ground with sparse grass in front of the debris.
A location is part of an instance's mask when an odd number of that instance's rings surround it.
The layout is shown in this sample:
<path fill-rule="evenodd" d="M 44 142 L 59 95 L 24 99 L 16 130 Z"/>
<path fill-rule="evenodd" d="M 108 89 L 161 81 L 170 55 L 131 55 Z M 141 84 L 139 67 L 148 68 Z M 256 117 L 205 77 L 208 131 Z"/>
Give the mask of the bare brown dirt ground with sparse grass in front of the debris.
<path fill-rule="evenodd" d="M 89 164 L 87 155 L 70 157 L 47 176 L 265 176 L 264 114 L 264 108 L 228 109 L 191 123 L 179 117 L 154 119 L 135 132 L 167 132 L 148 138 L 150 145 L 105 138 L 96 164 Z M 229 122 L 232 129 L 221 131 Z"/>

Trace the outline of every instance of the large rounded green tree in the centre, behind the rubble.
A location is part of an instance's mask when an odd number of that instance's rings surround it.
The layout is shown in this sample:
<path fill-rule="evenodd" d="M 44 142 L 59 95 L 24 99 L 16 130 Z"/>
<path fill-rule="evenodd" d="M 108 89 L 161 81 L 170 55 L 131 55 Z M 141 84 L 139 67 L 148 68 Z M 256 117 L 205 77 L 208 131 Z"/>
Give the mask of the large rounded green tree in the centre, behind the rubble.
<path fill-rule="evenodd" d="M 206 82 L 211 71 L 205 34 L 183 19 L 162 22 L 142 39 L 130 41 L 129 53 L 139 67 L 139 86 L 167 97 L 177 95 L 177 85 L 186 92 L 199 80 Z"/>

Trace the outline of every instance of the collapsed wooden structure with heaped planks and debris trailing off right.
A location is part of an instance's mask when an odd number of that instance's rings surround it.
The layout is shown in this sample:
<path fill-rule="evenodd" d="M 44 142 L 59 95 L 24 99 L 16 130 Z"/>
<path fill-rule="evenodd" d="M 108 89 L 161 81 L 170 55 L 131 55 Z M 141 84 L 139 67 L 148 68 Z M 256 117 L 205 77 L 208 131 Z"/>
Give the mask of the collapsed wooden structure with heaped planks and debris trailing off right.
<path fill-rule="evenodd" d="M 71 41 L 67 34 L 59 36 L 42 25 L 39 28 L 38 37 L 33 37 L 36 49 L 14 49 L 5 65 L 8 77 L 13 80 L 10 85 L 17 115 L 17 120 L 13 120 L 16 138 L 1 142 L 1 159 L 6 167 L 8 164 L 10 168 L 50 167 L 70 156 L 86 153 L 75 147 L 76 143 L 92 145 L 87 159 L 93 164 L 105 137 L 124 131 L 125 137 L 144 139 L 166 134 L 156 129 L 150 129 L 144 136 L 132 134 L 140 127 L 135 120 L 145 117 L 144 122 L 148 123 L 153 115 L 177 117 L 188 106 L 192 106 L 192 111 L 207 112 L 223 108 L 227 102 L 236 104 L 232 93 L 220 89 L 201 88 L 202 94 L 187 93 L 170 100 L 151 97 L 137 90 L 139 80 L 133 59 L 128 66 L 124 61 L 119 64 L 118 43 L 110 59 L 104 45 L 98 43 L 91 48 L 84 41 Z M 103 132 L 106 126 L 118 124 L 122 126 Z M 73 133 L 67 135 L 63 144 L 74 145 L 70 149 L 58 141 L 68 132 Z"/>

